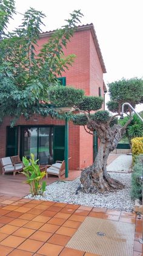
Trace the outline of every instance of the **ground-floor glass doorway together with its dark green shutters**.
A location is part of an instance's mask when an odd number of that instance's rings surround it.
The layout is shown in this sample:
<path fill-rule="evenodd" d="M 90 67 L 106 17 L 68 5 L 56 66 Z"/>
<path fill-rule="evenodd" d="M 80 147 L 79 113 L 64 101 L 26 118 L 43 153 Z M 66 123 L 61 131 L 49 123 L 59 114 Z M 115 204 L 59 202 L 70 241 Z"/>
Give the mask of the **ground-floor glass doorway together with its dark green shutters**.
<path fill-rule="evenodd" d="M 64 160 L 64 151 L 65 126 L 7 127 L 7 156 L 19 152 L 21 158 L 29 158 L 32 153 L 39 159 L 39 164 L 51 165 L 56 160 Z"/>

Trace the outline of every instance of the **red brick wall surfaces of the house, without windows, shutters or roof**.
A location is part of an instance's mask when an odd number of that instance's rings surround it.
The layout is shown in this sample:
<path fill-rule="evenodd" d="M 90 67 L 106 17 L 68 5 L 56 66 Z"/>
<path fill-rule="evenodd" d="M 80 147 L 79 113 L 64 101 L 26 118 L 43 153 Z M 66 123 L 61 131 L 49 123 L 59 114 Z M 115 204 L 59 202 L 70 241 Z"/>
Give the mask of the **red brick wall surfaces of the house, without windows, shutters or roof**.
<path fill-rule="evenodd" d="M 39 48 L 42 44 L 47 43 L 48 37 L 39 39 Z M 36 49 L 37 52 L 39 49 Z M 64 49 L 64 54 L 75 54 L 76 59 L 73 66 L 62 73 L 67 79 L 67 86 L 81 88 L 86 95 L 98 96 L 98 87 L 103 90 L 103 73 L 101 63 L 99 62 L 98 54 L 95 48 L 95 43 L 91 35 L 90 29 L 76 31 L 70 42 L 67 44 L 67 49 Z M 63 125 L 64 121 L 52 119 L 50 117 L 42 118 L 38 116 L 38 121 L 34 121 L 35 117 L 25 121 L 20 118 L 17 125 Z M 5 118 L 2 126 L 0 126 L 0 157 L 5 156 L 6 146 L 6 126 L 10 125 L 10 119 Z M 84 127 L 74 126 L 70 122 L 69 125 L 69 156 L 70 169 L 81 169 L 93 163 L 93 137 L 85 132 Z"/>

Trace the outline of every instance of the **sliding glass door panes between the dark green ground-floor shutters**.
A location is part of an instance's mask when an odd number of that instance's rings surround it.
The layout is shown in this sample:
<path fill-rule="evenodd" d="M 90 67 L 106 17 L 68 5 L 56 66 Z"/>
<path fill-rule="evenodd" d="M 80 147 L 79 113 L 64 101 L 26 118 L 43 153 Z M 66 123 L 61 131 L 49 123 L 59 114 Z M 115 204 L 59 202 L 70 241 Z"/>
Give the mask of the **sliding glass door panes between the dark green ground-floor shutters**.
<path fill-rule="evenodd" d="M 53 163 L 53 127 L 22 127 L 21 136 L 22 155 L 34 154 L 41 165 Z"/>

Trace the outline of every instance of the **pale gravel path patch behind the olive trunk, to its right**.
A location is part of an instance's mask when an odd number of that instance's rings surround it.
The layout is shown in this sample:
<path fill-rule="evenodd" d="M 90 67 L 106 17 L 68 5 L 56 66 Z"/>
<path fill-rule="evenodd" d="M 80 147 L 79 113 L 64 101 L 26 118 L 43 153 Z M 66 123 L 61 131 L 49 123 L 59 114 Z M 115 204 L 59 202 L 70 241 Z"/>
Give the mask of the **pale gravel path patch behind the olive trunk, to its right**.
<path fill-rule="evenodd" d="M 132 155 L 119 155 L 119 157 L 107 166 L 107 171 L 128 172 L 131 171 L 131 164 Z"/>

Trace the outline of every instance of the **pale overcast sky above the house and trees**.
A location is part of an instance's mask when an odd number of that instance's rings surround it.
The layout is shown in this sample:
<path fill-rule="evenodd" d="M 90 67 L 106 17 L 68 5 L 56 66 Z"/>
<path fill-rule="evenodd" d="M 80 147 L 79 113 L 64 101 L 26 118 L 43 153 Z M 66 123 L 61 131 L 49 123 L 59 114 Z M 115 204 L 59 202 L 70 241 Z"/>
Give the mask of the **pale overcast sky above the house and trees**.
<path fill-rule="evenodd" d="M 44 12 L 47 17 L 43 31 L 61 27 L 69 13 L 80 9 L 84 15 L 81 24 L 93 23 L 95 26 L 107 69 L 105 84 L 122 77 L 143 77 L 142 0 L 15 0 L 15 5 L 19 13 L 24 13 L 29 7 Z M 13 18 L 9 30 L 21 23 L 22 15 Z M 143 110 L 143 105 L 138 105 L 137 110 Z"/>

